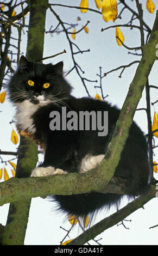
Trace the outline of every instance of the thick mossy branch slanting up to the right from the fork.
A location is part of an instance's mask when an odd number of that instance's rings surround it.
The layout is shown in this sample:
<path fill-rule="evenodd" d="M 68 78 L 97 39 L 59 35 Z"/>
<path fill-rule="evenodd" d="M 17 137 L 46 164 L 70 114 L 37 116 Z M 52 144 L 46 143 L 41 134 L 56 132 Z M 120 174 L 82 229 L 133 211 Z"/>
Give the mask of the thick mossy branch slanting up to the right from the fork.
<path fill-rule="evenodd" d="M 129 135 L 129 129 L 132 124 L 135 109 L 141 99 L 144 86 L 146 85 L 148 76 L 150 74 L 150 70 L 156 60 L 155 47 L 157 40 L 158 11 L 156 13 L 153 31 L 151 32 L 147 45 L 144 46 L 143 56 L 137 66 L 134 79 L 130 84 L 129 92 L 123 104 L 119 119 L 116 123 L 116 129 L 113 133 L 112 140 L 109 144 L 103 161 L 99 164 L 98 168 L 96 168 L 96 172 L 98 171 L 100 173 L 100 179 L 103 180 L 103 186 L 108 185 L 108 183 L 105 184 L 104 181 L 108 176 L 109 181 L 111 180 L 121 157 L 121 152 Z"/>

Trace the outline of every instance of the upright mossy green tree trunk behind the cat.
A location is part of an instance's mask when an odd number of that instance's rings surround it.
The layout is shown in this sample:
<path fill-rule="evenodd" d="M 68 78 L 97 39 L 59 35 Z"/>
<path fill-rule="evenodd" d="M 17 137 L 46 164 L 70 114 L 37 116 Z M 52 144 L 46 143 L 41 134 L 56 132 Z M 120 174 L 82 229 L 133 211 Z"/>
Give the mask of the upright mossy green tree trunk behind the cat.
<path fill-rule="evenodd" d="M 41 59 L 45 35 L 48 0 L 30 0 L 30 19 L 27 58 Z M 37 163 L 37 146 L 31 139 L 21 136 L 18 147 L 17 178 L 30 176 Z M 10 204 L 7 224 L 4 228 L 3 245 L 23 245 L 28 223 L 30 199 Z"/>

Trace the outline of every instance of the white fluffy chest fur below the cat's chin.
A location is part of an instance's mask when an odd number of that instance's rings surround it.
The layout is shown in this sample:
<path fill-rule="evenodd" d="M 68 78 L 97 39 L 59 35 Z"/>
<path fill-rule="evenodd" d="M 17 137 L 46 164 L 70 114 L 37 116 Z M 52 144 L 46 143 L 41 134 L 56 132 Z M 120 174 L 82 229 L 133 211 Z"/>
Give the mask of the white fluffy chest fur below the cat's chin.
<path fill-rule="evenodd" d="M 16 125 L 21 127 L 22 131 L 35 133 L 36 128 L 33 124 L 33 118 L 31 117 L 39 107 L 47 105 L 50 101 L 46 100 L 41 102 L 37 105 L 34 105 L 29 100 L 24 100 L 23 102 L 16 102 L 15 106 L 17 107 L 17 113 L 15 115 Z"/>

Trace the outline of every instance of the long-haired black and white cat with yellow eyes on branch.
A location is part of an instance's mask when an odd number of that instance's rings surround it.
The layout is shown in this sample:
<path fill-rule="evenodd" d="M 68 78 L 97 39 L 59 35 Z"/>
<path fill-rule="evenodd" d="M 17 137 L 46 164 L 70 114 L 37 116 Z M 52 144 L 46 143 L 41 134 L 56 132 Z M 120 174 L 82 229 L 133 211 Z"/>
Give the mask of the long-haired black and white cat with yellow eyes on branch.
<path fill-rule="evenodd" d="M 63 62 L 43 64 L 21 56 L 8 89 L 10 101 L 17 107 L 17 130 L 33 135 L 45 149 L 43 163 L 33 170 L 31 176 L 82 173 L 96 167 L 103 160 L 120 110 L 107 101 L 73 97 L 72 87 L 63 75 Z M 77 114 L 81 111 L 108 112 L 108 134 L 98 136 L 97 129 L 52 131 L 50 113 L 56 111 L 61 114 L 62 107 L 67 112 L 74 111 Z M 114 178 L 116 181 L 124 181 L 123 186 L 129 197 L 143 193 L 149 186 L 148 146 L 143 132 L 134 121 Z M 123 195 L 92 192 L 51 198 L 58 203 L 61 212 L 84 218 L 100 209 L 118 205 Z"/>

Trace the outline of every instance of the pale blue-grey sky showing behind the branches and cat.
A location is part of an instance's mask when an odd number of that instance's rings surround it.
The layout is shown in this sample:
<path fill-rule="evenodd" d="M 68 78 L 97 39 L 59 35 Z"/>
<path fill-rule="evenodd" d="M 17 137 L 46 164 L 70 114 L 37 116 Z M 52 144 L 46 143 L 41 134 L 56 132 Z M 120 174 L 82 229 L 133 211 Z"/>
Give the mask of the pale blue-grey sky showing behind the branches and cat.
<path fill-rule="evenodd" d="M 56 1 L 57 2 L 57 1 Z M 74 4 L 75 2 L 75 4 Z M 118 1 L 117 1 L 118 2 Z M 127 1 L 126 1 L 127 2 Z M 128 1 L 129 5 L 132 9 L 136 11 L 135 1 Z M 156 9 L 158 9 L 158 3 L 156 0 L 153 0 L 155 4 L 154 14 L 150 14 L 146 9 L 146 0 L 140 1 L 143 7 L 143 16 L 146 23 L 150 28 L 153 27 L 153 22 L 155 19 Z M 49 0 L 49 3 L 55 3 L 54 0 Z M 64 0 L 60 0 L 61 4 L 65 4 Z M 75 5 L 79 6 L 80 0 L 67 0 L 67 5 Z M 94 0 L 89 0 L 89 7 L 92 9 L 96 9 L 96 5 Z M 118 13 L 121 9 L 121 5 L 118 5 Z M 108 29 L 107 31 L 101 32 L 102 28 L 106 28 L 113 25 L 112 21 L 106 23 L 102 19 L 102 15 L 97 13 L 92 13 L 87 11 L 87 13 L 81 13 L 78 9 L 69 9 L 63 7 L 54 7 L 56 13 L 59 14 L 60 19 L 67 23 L 78 23 L 77 30 L 86 24 L 87 21 L 90 21 L 87 27 L 89 28 L 89 33 L 85 33 L 83 30 L 79 34 L 75 36 L 75 40 L 69 38 L 77 44 L 81 50 L 87 50 L 90 48 L 90 52 L 84 52 L 83 54 L 76 54 L 75 60 L 77 60 L 78 64 L 85 71 L 83 77 L 88 78 L 89 80 L 98 82 L 86 82 L 87 89 L 92 97 L 94 97 L 97 93 L 100 94 L 99 88 L 94 88 L 94 86 L 99 86 L 99 67 L 102 67 L 103 74 L 112 69 L 117 68 L 121 65 L 127 65 L 135 60 L 139 60 L 140 56 L 134 56 L 132 54 L 128 54 L 128 51 L 123 46 L 118 46 L 115 38 L 115 28 Z M 19 10 L 20 11 L 20 10 Z M 28 16 L 26 16 L 26 24 L 28 24 Z M 80 17 L 80 21 L 77 21 L 77 17 Z M 127 21 L 130 21 L 131 14 L 129 11 L 124 11 L 122 14 L 121 20 L 116 20 L 114 25 L 122 24 Z M 56 18 L 47 11 L 46 17 L 46 31 L 49 31 L 50 26 L 58 25 Z M 135 22 L 135 25 L 138 25 L 138 21 Z M 121 28 L 121 31 L 124 35 L 125 41 L 124 44 L 129 47 L 137 47 L 140 46 L 140 32 L 138 29 L 130 29 L 130 28 Z M 73 32 L 73 28 L 70 29 L 70 32 Z M 14 29 L 14 35 L 16 35 L 16 30 Z M 21 52 L 26 53 L 26 45 L 27 45 L 27 33 L 22 34 L 22 42 L 21 42 Z M 62 52 L 66 50 L 66 54 L 61 54 L 58 57 L 53 59 L 47 59 L 43 63 L 52 62 L 53 64 L 58 63 L 60 61 L 64 61 L 64 71 L 68 72 L 73 67 L 73 62 L 71 58 L 71 51 L 69 48 L 68 41 L 64 33 L 60 33 L 58 35 L 51 36 L 49 33 L 45 35 L 45 45 L 43 57 L 51 56 L 58 52 Z M 131 52 L 131 51 L 130 51 Z M 121 70 L 112 72 L 103 78 L 103 92 L 104 96 L 108 94 L 109 96 L 106 98 L 113 105 L 117 105 L 119 108 L 122 107 L 123 102 L 125 100 L 125 96 L 127 95 L 130 82 L 134 77 L 135 71 L 137 68 L 137 64 L 130 66 L 130 68 L 125 69 L 122 74 L 122 78 L 119 78 L 119 74 Z M 158 63 L 155 62 L 149 76 L 149 84 L 158 86 L 157 84 L 157 68 Z M 73 95 L 75 97 L 87 96 L 86 90 L 83 87 L 83 84 L 75 72 L 73 70 L 66 79 L 69 83 L 71 83 L 73 89 Z M 5 88 L 3 88 L 5 90 Z M 157 100 L 157 91 L 155 89 L 150 90 L 150 98 L 151 102 Z M 12 129 L 16 131 L 15 124 L 9 124 L 9 122 L 14 119 L 15 109 L 12 107 L 11 103 L 8 100 L 5 100 L 3 104 L 1 104 L 1 129 L 0 134 L 0 148 L 2 151 L 16 151 L 18 144 L 14 145 L 11 140 L 11 132 Z M 146 93 L 143 92 L 142 98 L 138 105 L 138 108 L 146 107 Z M 158 113 L 157 105 L 155 104 L 155 111 Z M 151 118 L 153 120 L 154 117 L 154 107 L 151 106 Z M 136 111 L 134 116 L 134 120 L 144 131 L 144 134 L 148 132 L 147 130 L 147 117 L 145 111 Z M 155 138 L 155 144 L 158 144 L 158 139 Z M 157 160 L 158 151 L 154 150 L 154 161 Z M 40 156 L 40 161 L 43 156 Z M 3 156 L 3 161 L 8 161 L 13 159 L 12 156 Z M 12 160 L 15 162 L 15 160 Z M 5 163 L 0 162 L 0 168 L 4 167 Z M 11 177 L 10 166 L 7 164 L 5 166 L 7 168 L 9 176 Z M 155 175 L 157 178 L 157 174 Z M 3 181 L 3 179 L 1 180 Z M 127 204 L 127 200 L 123 200 L 121 207 Z M 9 204 L 0 207 L 0 223 L 5 225 L 7 221 L 7 212 L 8 212 Z M 26 239 L 24 241 L 25 245 L 60 245 L 60 241 L 66 235 L 66 231 L 64 229 L 69 229 L 71 224 L 68 221 L 64 221 L 65 216 L 62 214 L 58 214 L 54 211 L 55 205 L 53 203 L 48 202 L 47 199 L 42 198 L 33 198 L 31 200 L 31 207 L 29 213 L 29 221 L 26 232 Z M 154 198 L 146 205 L 144 205 L 144 209 L 137 210 L 130 216 L 128 216 L 127 220 L 131 220 L 130 222 L 125 222 L 124 224 L 129 229 L 125 229 L 123 225 L 113 226 L 112 228 L 105 230 L 104 233 L 97 236 L 97 239 L 102 238 L 100 243 L 102 245 L 157 245 L 157 228 L 149 229 L 153 225 L 158 223 L 157 219 L 157 198 Z M 109 212 L 102 211 L 97 215 L 96 222 L 102 220 L 103 218 L 109 216 L 116 209 L 111 209 Z M 62 228 L 64 229 L 62 229 Z M 73 239 L 77 235 L 81 233 L 81 230 L 78 227 L 78 224 L 74 227 L 73 231 L 70 233 L 70 238 Z M 69 239 L 69 238 L 68 238 Z M 66 239 L 66 240 L 68 240 Z M 96 244 L 93 241 L 90 241 L 91 244 Z"/>

